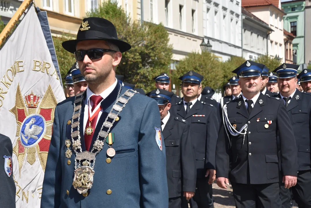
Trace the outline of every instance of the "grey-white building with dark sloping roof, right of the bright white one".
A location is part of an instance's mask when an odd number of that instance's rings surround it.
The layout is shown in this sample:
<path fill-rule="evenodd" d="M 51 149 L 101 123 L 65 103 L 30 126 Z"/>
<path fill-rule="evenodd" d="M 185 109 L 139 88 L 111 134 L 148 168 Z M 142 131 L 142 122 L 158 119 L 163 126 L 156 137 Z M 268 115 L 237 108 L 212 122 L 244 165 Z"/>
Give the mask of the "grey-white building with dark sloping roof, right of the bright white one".
<path fill-rule="evenodd" d="M 255 60 L 268 53 L 268 34 L 273 30 L 267 23 L 242 7 L 243 58 Z"/>

